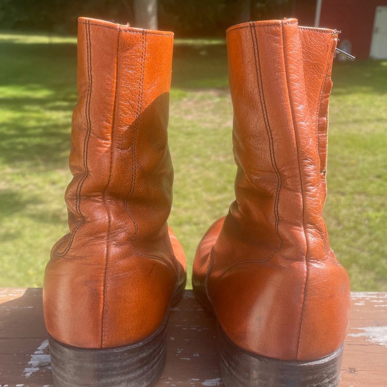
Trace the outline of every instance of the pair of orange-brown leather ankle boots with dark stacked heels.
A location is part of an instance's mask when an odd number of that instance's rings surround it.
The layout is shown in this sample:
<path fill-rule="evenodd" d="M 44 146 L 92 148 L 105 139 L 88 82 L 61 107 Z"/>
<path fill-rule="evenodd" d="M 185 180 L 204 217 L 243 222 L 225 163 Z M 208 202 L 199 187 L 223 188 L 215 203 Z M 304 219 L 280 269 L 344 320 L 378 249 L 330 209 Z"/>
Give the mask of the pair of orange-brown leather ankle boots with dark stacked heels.
<path fill-rule="evenodd" d="M 78 22 L 70 232 L 43 291 L 54 385 L 151 386 L 186 280 L 167 225 L 173 34 Z M 336 43 L 295 19 L 227 31 L 236 200 L 193 272 L 227 387 L 338 386 L 349 282 L 322 216 Z"/>

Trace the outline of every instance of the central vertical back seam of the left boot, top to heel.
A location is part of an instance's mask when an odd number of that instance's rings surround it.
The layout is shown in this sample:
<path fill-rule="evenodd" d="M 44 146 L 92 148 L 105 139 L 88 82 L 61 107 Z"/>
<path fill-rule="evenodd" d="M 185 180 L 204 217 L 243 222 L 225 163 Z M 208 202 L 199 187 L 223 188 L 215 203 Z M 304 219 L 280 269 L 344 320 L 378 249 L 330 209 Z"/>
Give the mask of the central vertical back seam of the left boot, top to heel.
<path fill-rule="evenodd" d="M 104 268 L 104 274 L 103 274 L 103 285 L 102 285 L 102 311 L 101 311 L 101 321 L 102 321 L 102 328 L 101 328 L 101 348 L 103 348 L 103 344 L 105 341 L 104 337 L 104 325 L 105 325 L 105 298 L 106 298 L 106 279 L 107 279 L 107 270 L 108 270 L 108 264 L 109 264 L 109 238 L 110 238 L 110 228 L 111 228 L 111 216 L 110 212 L 108 210 L 108 207 L 106 206 L 106 190 L 108 189 L 110 185 L 110 180 L 112 177 L 112 168 L 113 168 L 113 132 L 114 132 L 114 126 L 116 124 L 116 104 L 117 104 L 117 90 L 118 90 L 118 54 L 119 54 L 119 36 L 120 36 L 120 26 L 118 26 L 118 37 L 117 37 L 117 51 L 116 51 L 116 83 L 115 83 L 115 91 L 114 91 L 114 101 L 113 101 L 113 112 L 112 112 L 112 126 L 110 131 L 110 171 L 109 171 L 109 177 L 108 182 L 106 184 L 106 187 L 103 191 L 102 197 L 103 197 L 103 204 L 105 206 L 107 215 L 108 215 L 108 231 L 106 235 L 106 258 L 105 258 L 105 268 Z"/>

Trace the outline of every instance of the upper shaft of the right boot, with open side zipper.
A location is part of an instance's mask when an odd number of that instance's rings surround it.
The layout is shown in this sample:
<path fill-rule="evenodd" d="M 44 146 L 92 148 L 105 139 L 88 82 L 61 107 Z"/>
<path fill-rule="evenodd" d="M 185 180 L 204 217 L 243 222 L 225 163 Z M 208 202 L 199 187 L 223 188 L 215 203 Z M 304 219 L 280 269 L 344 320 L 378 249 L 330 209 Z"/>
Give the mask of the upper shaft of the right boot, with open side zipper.
<path fill-rule="evenodd" d="M 329 254 L 322 217 L 330 70 L 337 32 L 295 19 L 227 33 L 236 201 L 225 227 L 289 259 Z"/>

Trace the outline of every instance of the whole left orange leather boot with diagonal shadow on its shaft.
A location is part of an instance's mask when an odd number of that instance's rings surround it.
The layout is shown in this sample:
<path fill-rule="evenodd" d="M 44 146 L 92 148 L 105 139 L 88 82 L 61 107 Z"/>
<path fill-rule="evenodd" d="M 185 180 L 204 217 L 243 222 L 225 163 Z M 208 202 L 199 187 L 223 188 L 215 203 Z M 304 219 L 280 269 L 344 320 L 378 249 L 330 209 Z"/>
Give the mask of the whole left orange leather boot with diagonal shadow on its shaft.
<path fill-rule="evenodd" d="M 165 362 L 184 252 L 168 229 L 173 34 L 78 19 L 78 103 L 43 304 L 54 385 L 150 386 Z"/>

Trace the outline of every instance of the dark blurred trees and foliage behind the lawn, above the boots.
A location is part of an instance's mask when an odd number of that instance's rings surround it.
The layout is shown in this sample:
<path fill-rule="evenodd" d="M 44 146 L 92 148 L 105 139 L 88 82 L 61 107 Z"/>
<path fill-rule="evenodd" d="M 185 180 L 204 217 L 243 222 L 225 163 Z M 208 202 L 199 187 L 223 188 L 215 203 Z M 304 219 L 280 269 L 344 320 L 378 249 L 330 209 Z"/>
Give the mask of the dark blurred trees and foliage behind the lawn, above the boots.
<path fill-rule="evenodd" d="M 3 30 L 76 34 L 78 16 L 136 24 L 135 3 L 149 0 L 0 0 Z M 158 0 L 158 28 L 176 37 L 216 37 L 239 22 L 292 14 L 294 0 Z"/>

